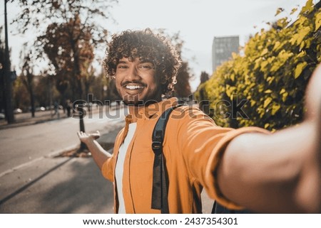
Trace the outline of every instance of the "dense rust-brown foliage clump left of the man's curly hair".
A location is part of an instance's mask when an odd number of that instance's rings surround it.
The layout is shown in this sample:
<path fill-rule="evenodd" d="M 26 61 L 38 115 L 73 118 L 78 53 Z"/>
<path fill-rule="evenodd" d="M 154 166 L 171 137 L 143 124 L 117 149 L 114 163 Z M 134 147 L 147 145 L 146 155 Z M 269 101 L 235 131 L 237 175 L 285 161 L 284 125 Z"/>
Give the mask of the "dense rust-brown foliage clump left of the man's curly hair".
<path fill-rule="evenodd" d="M 63 100 L 66 89 L 71 89 L 72 99 L 83 98 L 83 81 L 88 82 L 88 71 L 93 71 L 93 44 L 88 28 L 82 28 L 81 21 L 48 26 L 46 35 L 39 36 L 38 40 L 44 48 L 56 72 L 56 88 Z M 91 75 L 93 73 L 91 72 Z M 86 84 L 88 87 L 88 83 Z"/>

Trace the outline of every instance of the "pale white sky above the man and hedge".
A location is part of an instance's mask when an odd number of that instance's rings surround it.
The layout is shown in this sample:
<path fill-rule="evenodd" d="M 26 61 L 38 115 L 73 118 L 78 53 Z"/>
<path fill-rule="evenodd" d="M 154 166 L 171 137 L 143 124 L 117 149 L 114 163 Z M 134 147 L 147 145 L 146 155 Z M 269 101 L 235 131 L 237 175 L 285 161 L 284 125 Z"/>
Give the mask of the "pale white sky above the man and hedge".
<path fill-rule="evenodd" d="M 266 22 L 275 21 L 277 8 L 290 16 L 293 8 L 305 5 L 307 0 L 119 0 L 112 14 L 117 24 L 108 23 L 111 33 L 126 29 L 165 28 L 168 33 L 180 32 L 185 41 L 183 58 L 190 61 L 195 75 L 193 89 L 199 83 L 201 71 L 212 74 L 212 43 L 214 36 L 240 36 L 243 45 L 250 34 L 266 28 Z M 314 0 L 318 2 L 320 0 Z M 9 4 L 8 4 L 9 5 Z M 8 6 L 9 17 L 16 9 Z M 0 23 L 4 23 L 4 4 L 0 5 Z M 10 18 L 9 18 L 10 20 Z M 255 28 L 256 27 L 256 28 Z M 10 30 L 9 30 L 10 31 Z M 1 36 L 3 37 L 3 36 Z M 26 37 L 25 37 L 26 38 Z M 19 65 L 20 43 L 23 38 L 9 37 L 13 65 Z M 18 69 L 16 69 L 18 71 Z"/>

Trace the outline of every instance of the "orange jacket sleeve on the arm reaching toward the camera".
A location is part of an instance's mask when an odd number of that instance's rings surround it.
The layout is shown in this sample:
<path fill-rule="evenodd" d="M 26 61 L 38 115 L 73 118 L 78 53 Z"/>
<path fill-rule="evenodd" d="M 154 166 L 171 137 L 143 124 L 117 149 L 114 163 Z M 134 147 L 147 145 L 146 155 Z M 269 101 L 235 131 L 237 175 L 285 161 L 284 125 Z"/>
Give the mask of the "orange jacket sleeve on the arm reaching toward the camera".
<path fill-rule="evenodd" d="M 179 123 L 180 122 L 180 123 Z M 215 122 L 196 108 L 184 110 L 183 118 L 177 121 L 178 147 L 182 153 L 191 178 L 205 188 L 208 195 L 231 210 L 243 207 L 226 198 L 217 183 L 217 170 L 228 143 L 240 134 L 265 132 L 258 127 L 231 129 L 217 126 Z M 193 181 L 193 180 L 191 180 Z"/>

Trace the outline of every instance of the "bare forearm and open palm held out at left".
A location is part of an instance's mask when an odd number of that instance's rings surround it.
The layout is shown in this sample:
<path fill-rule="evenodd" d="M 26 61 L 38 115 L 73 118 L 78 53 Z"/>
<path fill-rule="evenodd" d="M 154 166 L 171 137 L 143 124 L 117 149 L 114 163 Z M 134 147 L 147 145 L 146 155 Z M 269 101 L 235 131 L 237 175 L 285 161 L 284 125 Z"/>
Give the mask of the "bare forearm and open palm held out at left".
<path fill-rule="evenodd" d="M 96 141 L 99 138 L 99 131 L 96 134 L 86 134 L 83 131 L 77 132 L 79 139 L 86 144 L 89 151 L 91 151 L 91 155 L 93 156 L 93 160 L 96 162 L 98 167 L 101 169 L 103 163 L 111 157 L 111 154 L 108 153 L 101 147 L 101 145 Z"/>

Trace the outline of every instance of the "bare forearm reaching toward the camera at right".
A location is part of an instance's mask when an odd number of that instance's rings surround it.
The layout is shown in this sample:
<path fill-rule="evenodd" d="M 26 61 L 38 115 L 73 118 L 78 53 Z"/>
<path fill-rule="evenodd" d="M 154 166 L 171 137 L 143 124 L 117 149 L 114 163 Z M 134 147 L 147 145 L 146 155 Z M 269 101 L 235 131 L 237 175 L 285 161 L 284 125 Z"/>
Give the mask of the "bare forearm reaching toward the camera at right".
<path fill-rule="evenodd" d="M 321 66 L 306 93 L 299 126 L 275 134 L 243 134 L 218 167 L 220 191 L 258 212 L 321 212 Z"/>

